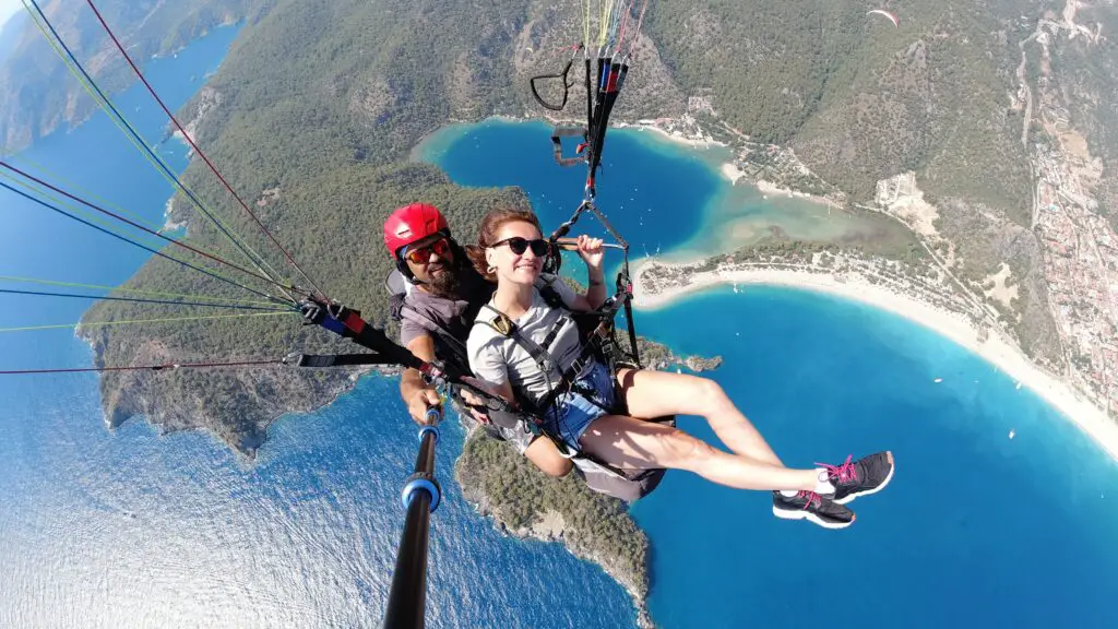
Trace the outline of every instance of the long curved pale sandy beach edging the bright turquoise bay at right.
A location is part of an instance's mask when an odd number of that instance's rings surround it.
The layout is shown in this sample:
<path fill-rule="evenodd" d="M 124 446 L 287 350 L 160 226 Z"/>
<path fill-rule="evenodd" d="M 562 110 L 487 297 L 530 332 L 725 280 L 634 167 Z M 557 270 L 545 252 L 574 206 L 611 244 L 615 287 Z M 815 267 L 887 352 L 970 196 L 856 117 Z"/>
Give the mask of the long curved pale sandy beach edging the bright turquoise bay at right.
<path fill-rule="evenodd" d="M 825 292 L 900 314 L 977 354 L 1022 386 L 1029 387 L 1090 435 L 1112 458 L 1118 459 L 1118 423 L 1107 417 L 1102 409 L 1084 395 L 1033 364 L 999 330 L 991 330 L 988 338 L 982 341 L 978 340 L 977 329 L 961 316 L 859 278 L 839 282 L 831 274 L 807 271 L 747 269 L 693 273 L 686 285 L 648 294 L 642 284 L 642 269 L 647 264 L 667 266 L 663 262 L 646 260 L 634 265 L 634 306 L 638 309 L 662 308 L 684 294 L 719 284 L 769 284 Z"/>

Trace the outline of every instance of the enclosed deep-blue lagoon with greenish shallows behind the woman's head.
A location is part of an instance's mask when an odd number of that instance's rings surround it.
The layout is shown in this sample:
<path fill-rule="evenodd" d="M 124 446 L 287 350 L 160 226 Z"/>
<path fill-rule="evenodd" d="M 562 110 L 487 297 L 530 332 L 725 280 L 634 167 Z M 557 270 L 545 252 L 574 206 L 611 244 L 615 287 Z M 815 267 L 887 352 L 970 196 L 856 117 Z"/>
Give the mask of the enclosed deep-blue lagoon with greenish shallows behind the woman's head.
<path fill-rule="evenodd" d="M 558 225 L 582 200 L 586 169 L 556 166 L 550 129 L 542 122 L 498 119 L 451 125 L 427 138 L 413 158 L 438 165 L 464 186 L 521 186 L 544 223 Z M 731 185 L 719 172 L 729 157 L 720 147 L 691 149 L 641 130 L 614 131 L 606 147 L 597 204 L 610 223 L 624 223 L 623 236 L 636 257 L 731 252 L 773 227 L 800 238 L 874 229 L 863 218 L 831 213 L 826 206 L 766 197 L 745 182 Z M 605 235 L 593 217 L 580 219 L 579 226 Z"/>

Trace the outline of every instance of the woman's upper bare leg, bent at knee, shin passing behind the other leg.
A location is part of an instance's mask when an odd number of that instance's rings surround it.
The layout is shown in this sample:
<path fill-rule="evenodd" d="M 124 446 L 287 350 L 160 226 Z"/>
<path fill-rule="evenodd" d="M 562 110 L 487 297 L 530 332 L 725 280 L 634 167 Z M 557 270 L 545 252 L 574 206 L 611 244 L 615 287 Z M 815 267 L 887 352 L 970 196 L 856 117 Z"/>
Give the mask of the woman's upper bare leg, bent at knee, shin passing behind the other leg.
<path fill-rule="evenodd" d="M 714 381 L 650 369 L 622 369 L 617 373 L 617 382 L 625 392 L 629 415 L 646 420 L 699 415 L 733 452 L 784 467 L 761 433 Z"/>

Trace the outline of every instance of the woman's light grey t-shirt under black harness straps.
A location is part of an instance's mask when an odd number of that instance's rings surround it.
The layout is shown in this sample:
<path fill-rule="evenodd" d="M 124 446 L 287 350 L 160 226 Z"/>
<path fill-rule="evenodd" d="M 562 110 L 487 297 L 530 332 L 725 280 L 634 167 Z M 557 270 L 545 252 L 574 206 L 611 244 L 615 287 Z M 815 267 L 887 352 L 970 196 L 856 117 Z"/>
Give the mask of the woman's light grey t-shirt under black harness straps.
<path fill-rule="evenodd" d="M 570 287 L 553 275 L 541 275 L 532 291 L 531 307 L 513 319 L 513 323 L 521 335 L 540 346 L 543 346 L 552 328 L 560 326 L 555 339 L 543 347 L 551 358 L 550 374 L 541 372 L 532 355 L 513 337 L 503 336 L 486 325 L 496 317 L 496 311 L 491 310 L 492 301 L 489 303 L 490 308 L 482 308 L 477 313 L 477 320 L 466 341 L 470 368 L 475 376 L 496 385 L 512 383 L 513 388 L 527 392 L 536 400 L 547 395 L 551 387 L 558 386 L 562 372 L 578 358 L 581 350 L 578 326 L 566 310 L 552 308 L 544 301 L 539 291 L 544 284 L 550 284 L 568 308 L 574 306 L 576 295 Z"/>

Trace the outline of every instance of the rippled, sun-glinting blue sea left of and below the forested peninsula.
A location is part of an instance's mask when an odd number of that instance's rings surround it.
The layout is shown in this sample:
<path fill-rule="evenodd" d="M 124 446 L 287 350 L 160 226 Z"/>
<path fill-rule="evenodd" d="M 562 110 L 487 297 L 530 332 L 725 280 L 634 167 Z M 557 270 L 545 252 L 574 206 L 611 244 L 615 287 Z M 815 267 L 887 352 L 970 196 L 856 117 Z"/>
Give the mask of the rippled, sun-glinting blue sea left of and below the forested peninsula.
<path fill-rule="evenodd" d="M 149 78 L 172 106 L 236 37 L 218 29 Z M 183 147 L 141 88 L 115 100 L 177 170 Z M 40 163 L 160 223 L 170 186 L 98 114 L 13 158 Z M 51 177 L 48 177 L 51 179 Z M 115 284 L 146 259 L 108 236 L 0 195 L 0 274 Z M 217 203 L 221 199 L 208 199 Z M 77 321 L 87 302 L 0 297 L 0 328 Z M 73 331 L 0 334 L 0 369 L 89 365 Z M 378 627 L 417 448 L 397 384 L 363 379 L 311 415 L 277 422 L 253 464 L 202 433 L 104 428 L 92 375 L 0 378 L 0 627 Z M 430 627 L 622 627 L 613 580 L 557 544 L 500 535 L 462 499 L 447 422 L 432 523 Z M 570 591 L 594 600 L 568 607 Z M 576 598 L 576 600 L 578 600 Z M 600 604 L 598 604 L 600 603 Z"/>

